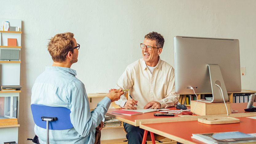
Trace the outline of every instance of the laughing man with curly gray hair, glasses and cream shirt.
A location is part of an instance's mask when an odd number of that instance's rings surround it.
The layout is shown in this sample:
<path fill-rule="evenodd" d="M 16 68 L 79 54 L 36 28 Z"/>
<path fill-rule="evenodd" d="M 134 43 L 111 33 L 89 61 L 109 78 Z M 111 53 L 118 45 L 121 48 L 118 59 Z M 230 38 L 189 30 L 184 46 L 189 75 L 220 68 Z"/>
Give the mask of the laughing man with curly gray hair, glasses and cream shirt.
<path fill-rule="evenodd" d="M 115 103 L 126 109 L 168 108 L 178 103 L 179 94 L 174 88 L 174 69 L 160 59 L 165 40 L 157 32 L 145 35 L 142 48 L 142 59 L 126 67 L 116 83 L 116 89 L 129 89 L 128 100 L 125 92 Z M 124 123 L 128 144 L 142 143 L 144 130 Z"/>

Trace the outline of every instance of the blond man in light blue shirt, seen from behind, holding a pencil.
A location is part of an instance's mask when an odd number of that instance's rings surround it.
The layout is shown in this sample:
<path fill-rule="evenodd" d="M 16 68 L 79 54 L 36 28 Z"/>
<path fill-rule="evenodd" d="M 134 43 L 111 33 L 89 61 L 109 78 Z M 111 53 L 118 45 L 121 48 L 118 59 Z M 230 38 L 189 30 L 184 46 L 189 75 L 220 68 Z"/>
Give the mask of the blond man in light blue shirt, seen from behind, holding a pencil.
<path fill-rule="evenodd" d="M 100 143 L 102 119 L 111 102 L 118 100 L 123 94 L 122 89 L 108 93 L 90 112 L 84 84 L 76 78 L 76 70 L 70 68 L 78 61 L 79 48 L 73 33 L 67 32 L 52 37 L 48 43 L 48 51 L 53 64 L 46 66 L 32 88 L 31 104 L 65 107 L 71 111 L 70 119 L 74 127 L 67 130 L 50 130 L 51 144 Z M 45 144 L 46 130 L 37 125 L 34 130 L 40 144 Z"/>

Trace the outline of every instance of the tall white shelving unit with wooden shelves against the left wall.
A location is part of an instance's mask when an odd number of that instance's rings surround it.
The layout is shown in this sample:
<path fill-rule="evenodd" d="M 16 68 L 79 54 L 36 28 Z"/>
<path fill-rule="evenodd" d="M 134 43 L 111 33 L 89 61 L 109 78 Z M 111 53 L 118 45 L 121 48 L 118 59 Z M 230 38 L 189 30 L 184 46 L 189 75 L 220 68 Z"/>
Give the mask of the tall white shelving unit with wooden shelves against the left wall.
<path fill-rule="evenodd" d="M 0 18 L 9 21 L 9 26 L 21 28 L 21 20 Z M 21 50 L 21 33 L 0 31 L 0 49 Z M 17 39 L 17 46 L 8 46 L 8 38 Z M 20 52 L 18 61 L 0 61 L 0 86 L 20 85 Z M 18 143 L 19 94 L 17 91 L 0 91 L 0 144 L 15 141 Z"/>

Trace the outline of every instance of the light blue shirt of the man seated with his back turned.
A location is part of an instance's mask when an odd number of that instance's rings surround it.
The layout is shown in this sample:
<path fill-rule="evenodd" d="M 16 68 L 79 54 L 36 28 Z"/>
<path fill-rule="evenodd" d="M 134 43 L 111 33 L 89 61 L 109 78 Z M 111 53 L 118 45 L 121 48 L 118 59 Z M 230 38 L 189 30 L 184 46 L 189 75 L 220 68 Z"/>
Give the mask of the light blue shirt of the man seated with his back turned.
<path fill-rule="evenodd" d="M 76 70 L 46 66 L 33 85 L 31 104 L 65 107 L 71 111 L 70 119 L 74 127 L 67 130 L 50 130 L 51 144 L 94 144 L 95 128 L 111 104 L 111 100 L 105 97 L 90 112 L 84 84 L 75 76 Z M 35 125 L 34 130 L 40 144 L 45 144 L 46 129 Z"/>

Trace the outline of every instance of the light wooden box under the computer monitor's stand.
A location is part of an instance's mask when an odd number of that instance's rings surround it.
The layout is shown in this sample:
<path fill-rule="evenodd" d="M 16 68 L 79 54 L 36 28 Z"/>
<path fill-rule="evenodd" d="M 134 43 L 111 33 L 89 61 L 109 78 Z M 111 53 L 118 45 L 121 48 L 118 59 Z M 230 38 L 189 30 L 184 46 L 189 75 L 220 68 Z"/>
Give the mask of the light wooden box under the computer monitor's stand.
<path fill-rule="evenodd" d="M 193 112 L 195 106 L 194 113 L 200 116 L 205 115 L 220 115 L 220 114 L 231 114 L 231 102 L 226 102 L 227 110 L 223 103 L 207 103 L 204 101 L 198 101 L 196 105 L 196 100 L 190 101 L 191 112 Z"/>

